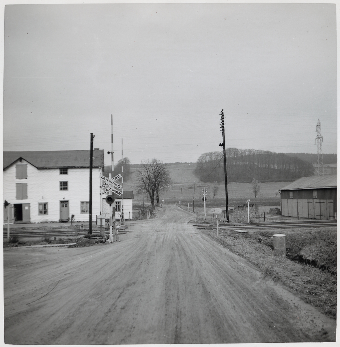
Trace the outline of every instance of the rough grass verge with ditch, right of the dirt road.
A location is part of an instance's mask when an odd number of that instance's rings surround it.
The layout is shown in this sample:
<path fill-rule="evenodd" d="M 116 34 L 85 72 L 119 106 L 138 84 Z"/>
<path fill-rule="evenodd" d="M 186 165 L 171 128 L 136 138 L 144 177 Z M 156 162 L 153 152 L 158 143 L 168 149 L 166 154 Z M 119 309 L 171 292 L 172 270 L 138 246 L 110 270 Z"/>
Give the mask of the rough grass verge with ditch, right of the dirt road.
<path fill-rule="evenodd" d="M 318 307 L 323 313 L 336 319 L 337 313 L 337 276 L 336 267 L 336 228 L 335 230 L 300 229 L 299 231 L 287 232 L 287 229 L 273 229 L 266 232 L 249 232 L 240 234 L 234 230 L 219 230 L 217 237 L 216 229 L 206 229 L 203 232 L 216 240 L 231 252 L 247 259 L 257 266 L 261 272 L 274 281 L 285 285 L 290 291 L 297 294 L 306 303 Z M 273 234 L 286 234 L 286 247 L 295 245 L 298 253 L 313 255 L 316 261 L 321 262 L 326 270 L 310 264 L 302 264 L 292 261 L 288 257 L 275 257 L 271 247 Z M 319 244 L 322 234 L 326 240 L 334 236 L 332 247 L 327 247 L 329 242 Z M 305 238 L 303 239 L 303 235 Z M 307 235 L 309 235 L 307 237 Z M 299 241 L 298 241 L 299 240 Z M 303 241 L 304 247 L 299 247 Z M 334 248 L 335 243 L 335 248 Z M 316 251 L 316 249 L 318 249 Z M 335 253 L 334 253 L 335 249 Z M 292 252 L 292 251 L 291 251 Z M 294 252 L 293 252 L 294 253 Z M 335 254 L 335 259 L 334 257 Z M 335 265 L 336 266 L 336 265 Z M 332 272 L 335 270 L 335 274 Z"/>

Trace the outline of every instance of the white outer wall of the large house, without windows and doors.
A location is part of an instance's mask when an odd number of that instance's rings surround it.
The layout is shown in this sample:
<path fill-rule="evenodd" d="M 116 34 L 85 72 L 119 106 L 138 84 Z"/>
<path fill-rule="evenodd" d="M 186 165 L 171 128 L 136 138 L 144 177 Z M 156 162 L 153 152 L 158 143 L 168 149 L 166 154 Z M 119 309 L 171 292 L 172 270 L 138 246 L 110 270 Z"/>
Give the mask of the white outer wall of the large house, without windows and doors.
<path fill-rule="evenodd" d="M 70 218 L 74 214 L 75 221 L 88 221 L 88 213 L 80 213 L 80 202 L 89 201 L 89 168 L 68 169 L 68 175 L 60 175 L 59 169 L 38 170 L 27 164 L 27 179 L 17 179 L 15 166 L 12 164 L 3 171 L 3 198 L 11 204 L 30 204 L 30 221 L 58 221 L 60 219 L 60 201 L 69 200 Z M 68 181 L 68 191 L 60 191 L 60 181 Z M 25 200 L 16 200 L 16 183 L 27 183 Z M 98 168 L 92 171 L 92 220 L 100 212 L 100 172 Z M 48 203 L 48 215 L 38 214 L 38 203 Z"/>

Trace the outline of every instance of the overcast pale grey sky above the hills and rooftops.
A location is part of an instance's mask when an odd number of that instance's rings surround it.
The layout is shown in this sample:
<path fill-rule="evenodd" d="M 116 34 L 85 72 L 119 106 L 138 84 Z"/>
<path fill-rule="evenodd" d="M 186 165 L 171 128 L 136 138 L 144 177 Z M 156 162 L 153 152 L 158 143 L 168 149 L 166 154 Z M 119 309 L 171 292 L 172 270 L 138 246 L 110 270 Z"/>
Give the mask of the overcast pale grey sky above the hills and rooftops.
<path fill-rule="evenodd" d="M 3 150 L 337 153 L 335 4 L 6 5 Z M 105 154 L 105 164 L 111 156 Z"/>

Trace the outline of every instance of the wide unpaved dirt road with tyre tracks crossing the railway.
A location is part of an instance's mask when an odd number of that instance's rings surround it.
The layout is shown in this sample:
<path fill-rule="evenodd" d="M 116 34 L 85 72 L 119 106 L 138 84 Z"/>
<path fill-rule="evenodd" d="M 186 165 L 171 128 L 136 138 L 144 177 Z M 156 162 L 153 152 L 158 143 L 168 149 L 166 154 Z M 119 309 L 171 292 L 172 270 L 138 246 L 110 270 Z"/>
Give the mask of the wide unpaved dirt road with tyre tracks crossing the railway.
<path fill-rule="evenodd" d="M 335 321 L 261 278 L 189 225 L 192 218 L 163 205 L 156 218 L 136 221 L 120 242 L 5 248 L 5 343 L 335 339 Z"/>

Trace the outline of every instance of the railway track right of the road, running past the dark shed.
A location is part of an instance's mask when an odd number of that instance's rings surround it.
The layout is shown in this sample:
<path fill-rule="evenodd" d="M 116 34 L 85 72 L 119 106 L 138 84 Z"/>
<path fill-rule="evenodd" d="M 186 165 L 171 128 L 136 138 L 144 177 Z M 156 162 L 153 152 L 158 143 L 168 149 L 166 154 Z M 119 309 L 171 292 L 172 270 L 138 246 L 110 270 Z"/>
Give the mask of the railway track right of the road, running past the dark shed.
<path fill-rule="evenodd" d="M 216 224 L 194 224 L 198 229 L 216 228 Z M 289 228 L 323 228 L 336 227 L 337 220 L 296 221 L 296 222 L 263 222 L 263 223 L 230 223 L 219 224 L 218 229 L 289 229 Z"/>

